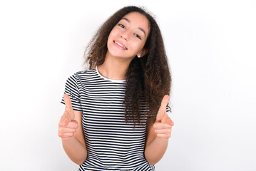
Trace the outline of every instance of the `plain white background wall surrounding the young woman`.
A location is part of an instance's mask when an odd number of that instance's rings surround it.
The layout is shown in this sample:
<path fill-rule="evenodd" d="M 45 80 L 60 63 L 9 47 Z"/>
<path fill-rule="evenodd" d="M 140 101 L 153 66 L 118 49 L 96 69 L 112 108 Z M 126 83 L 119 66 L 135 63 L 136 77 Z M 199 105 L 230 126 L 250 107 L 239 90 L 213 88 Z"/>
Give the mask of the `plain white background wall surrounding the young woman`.
<path fill-rule="evenodd" d="M 167 4 L 168 3 L 168 4 Z M 1 1 L 0 170 L 77 170 L 58 138 L 66 79 L 118 9 L 145 6 L 173 76 L 156 170 L 256 170 L 256 1 Z"/>

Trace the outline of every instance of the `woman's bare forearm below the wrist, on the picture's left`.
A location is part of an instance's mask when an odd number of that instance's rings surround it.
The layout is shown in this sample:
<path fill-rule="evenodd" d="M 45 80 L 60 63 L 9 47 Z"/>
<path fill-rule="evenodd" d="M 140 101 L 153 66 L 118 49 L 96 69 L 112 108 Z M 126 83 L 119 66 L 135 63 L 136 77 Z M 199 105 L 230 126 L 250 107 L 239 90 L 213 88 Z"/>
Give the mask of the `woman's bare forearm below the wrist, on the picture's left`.
<path fill-rule="evenodd" d="M 86 146 L 74 136 L 71 138 L 61 138 L 63 149 L 68 157 L 77 165 L 81 165 L 87 157 Z"/>

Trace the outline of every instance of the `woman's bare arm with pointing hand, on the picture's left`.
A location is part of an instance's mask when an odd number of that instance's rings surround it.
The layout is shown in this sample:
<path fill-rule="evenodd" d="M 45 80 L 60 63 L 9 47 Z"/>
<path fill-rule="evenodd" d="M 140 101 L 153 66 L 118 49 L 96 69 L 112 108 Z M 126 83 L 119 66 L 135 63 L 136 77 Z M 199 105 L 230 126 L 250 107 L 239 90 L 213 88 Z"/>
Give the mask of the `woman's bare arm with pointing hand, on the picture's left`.
<path fill-rule="evenodd" d="M 76 164 L 81 165 L 87 157 L 82 127 L 82 112 L 73 110 L 71 105 L 66 108 L 58 124 L 58 136 L 61 137 L 63 149 L 68 157 Z"/>

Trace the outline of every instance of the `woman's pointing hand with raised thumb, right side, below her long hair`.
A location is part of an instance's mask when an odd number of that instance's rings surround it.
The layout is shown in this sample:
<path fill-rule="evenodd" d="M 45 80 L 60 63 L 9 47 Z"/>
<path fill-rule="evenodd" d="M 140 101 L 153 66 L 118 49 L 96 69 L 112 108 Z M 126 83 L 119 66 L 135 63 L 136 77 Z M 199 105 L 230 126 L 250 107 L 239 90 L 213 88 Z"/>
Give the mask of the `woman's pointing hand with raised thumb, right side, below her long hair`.
<path fill-rule="evenodd" d="M 166 105 L 168 105 L 169 95 L 163 97 L 161 106 L 156 115 L 156 120 L 153 125 L 158 138 L 170 138 L 170 133 L 174 125 L 173 120 L 166 113 Z"/>

